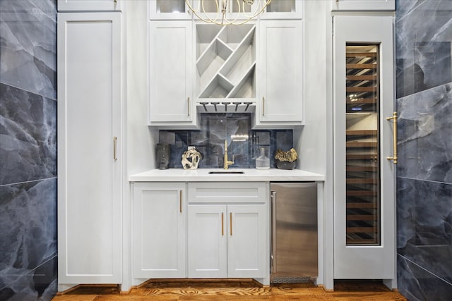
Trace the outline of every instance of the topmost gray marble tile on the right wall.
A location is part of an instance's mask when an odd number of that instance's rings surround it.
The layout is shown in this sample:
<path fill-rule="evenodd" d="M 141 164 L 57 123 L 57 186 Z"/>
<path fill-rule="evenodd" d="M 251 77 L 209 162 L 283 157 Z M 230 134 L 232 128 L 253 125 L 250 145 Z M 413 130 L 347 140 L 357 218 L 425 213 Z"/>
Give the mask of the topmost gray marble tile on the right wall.
<path fill-rule="evenodd" d="M 397 97 L 452 81 L 452 2 L 398 1 Z"/>

